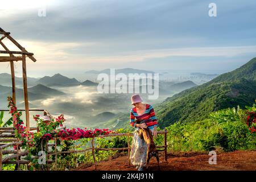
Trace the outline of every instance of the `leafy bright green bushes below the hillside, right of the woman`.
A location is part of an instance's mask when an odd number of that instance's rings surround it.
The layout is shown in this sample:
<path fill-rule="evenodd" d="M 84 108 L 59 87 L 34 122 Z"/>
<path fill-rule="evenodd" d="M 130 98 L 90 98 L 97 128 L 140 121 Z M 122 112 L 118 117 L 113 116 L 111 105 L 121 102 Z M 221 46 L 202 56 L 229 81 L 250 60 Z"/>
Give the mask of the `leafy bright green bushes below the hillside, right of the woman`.
<path fill-rule="evenodd" d="M 224 151 L 255 150 L 256 135 L 250 133 L 245 113 L 246 110 L 241 110 L 238 106 L 237 109 L 210 113 L 209 119 L 203 121 L 177 122 L 167 127 L 168 150 L 211 151 L 218 147 Z"/>

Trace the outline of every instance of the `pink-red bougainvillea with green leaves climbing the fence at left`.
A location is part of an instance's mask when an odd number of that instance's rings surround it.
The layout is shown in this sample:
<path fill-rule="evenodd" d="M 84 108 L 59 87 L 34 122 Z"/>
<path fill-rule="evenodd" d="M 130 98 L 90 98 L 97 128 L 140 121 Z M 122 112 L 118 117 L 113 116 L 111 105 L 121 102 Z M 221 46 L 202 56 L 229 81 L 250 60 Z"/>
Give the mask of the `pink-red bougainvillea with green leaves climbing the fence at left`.
<path fill-rule="evenodd" d="M 22 142 L 22 148 L 26 147 L 28 151 L 28 155 L 26 156 L 26 160 L 30 160 L 31 169 L 39 169 L 42 168 L 38 164 L 38 159 L 32 157 L 37 156 L 39 151 L 46 151 L 48 140 L 53 138 L 57 139 L 57 146 L 60 146 L 60 139 L 63 140 L 64 146 L 62 147 L 63 151 L 68 151 L 72 146 L 72 140 L 77 140 L 81 138 L 93 138 L 98 137 L 99 135 L 108 135 L 113 133 L 113 131 L 109 131 L 108 129 L 61 129 L 57 130 L 57 127 L 63 126 L 63 122 L 65 121 L 64 115 L 61 114 L 57 118 L 52 118 L 51 121 L 45 122 L 40 118 L 40 115 L 34 115 L 34 119 L 39 128 L 38 133 L 31 133 L 30 131 L 26 131 L 26 127 L 23 126 L 23 121 L 20 119 L 22 116 L 22 112 L 18 112 L 17 108 L 14 105 L 13 98 L 7 97 L 7 101 L 9 101 L 9 109 L 10 114 L 13 116 L 13 123 L 15 127 L 15 137 Z M 16 146 L 14 146 L 16 150 Z M 65 154 L 67 156 L 67 154 Z"/>

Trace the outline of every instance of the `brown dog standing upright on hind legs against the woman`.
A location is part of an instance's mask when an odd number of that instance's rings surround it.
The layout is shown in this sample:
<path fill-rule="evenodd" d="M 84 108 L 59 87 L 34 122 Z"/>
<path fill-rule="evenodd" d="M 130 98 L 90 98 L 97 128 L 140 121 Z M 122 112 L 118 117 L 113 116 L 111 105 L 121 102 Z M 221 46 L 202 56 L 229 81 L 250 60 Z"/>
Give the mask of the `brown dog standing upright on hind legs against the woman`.
<path fill-rule="evenodd" d="M 158 161 L 158 169 L 160 171 L 159 166 L 159 156 L 158 150 L 156 150 L 155 142 L 153 139 L 152 131 L 148 128 L 146 129 L 139 129 L 139 136 L 144 139 L 147 143 L 147 159 L 146 159 L 146 168 L 148 168 L 148 163 L 152 156 L 155 156 L 156 160 Z"/>

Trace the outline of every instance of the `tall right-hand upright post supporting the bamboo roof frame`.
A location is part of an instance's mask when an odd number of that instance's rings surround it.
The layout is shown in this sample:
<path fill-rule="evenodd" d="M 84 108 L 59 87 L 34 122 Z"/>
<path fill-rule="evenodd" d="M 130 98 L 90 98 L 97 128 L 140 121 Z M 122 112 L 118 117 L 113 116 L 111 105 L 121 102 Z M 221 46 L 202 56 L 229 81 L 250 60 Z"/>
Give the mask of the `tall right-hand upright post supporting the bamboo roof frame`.
<path fill-rule="evenodd" d="M 24 48 L 23 48 L 24 51 Z M 27 71 L 26 71 L 26 55 L 22 55 L 22 75 L 23 75 L 23 90 L 24 90 L 24 102 L 26 111 L 26 131 L 30 131 L 30 112 L 28 108 L 28 94 L 27 94 Z"/>

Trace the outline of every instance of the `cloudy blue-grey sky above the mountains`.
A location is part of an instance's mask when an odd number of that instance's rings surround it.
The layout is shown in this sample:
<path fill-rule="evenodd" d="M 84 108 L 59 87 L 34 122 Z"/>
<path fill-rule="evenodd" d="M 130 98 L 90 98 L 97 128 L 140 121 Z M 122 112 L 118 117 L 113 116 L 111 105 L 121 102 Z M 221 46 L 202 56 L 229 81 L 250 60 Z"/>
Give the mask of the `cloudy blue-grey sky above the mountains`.
<path fill-rule="evenodd" d="M 209 16 L 209 4 L 217 16 Z M 256 57 L 256 1 L 1 0 L 0 27 L 36 62 L 27 75 L 90 69 L 224 73 Z M 9 49 L 17 50 L 4 39 Z M 3 49 L 3 48 L 0 48 Z M 21 76 L 20 63 L 15 63 Z M 0 73 L 10 72 L 1 63 Z"/>

